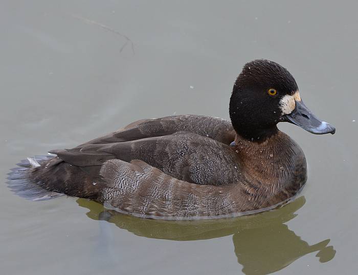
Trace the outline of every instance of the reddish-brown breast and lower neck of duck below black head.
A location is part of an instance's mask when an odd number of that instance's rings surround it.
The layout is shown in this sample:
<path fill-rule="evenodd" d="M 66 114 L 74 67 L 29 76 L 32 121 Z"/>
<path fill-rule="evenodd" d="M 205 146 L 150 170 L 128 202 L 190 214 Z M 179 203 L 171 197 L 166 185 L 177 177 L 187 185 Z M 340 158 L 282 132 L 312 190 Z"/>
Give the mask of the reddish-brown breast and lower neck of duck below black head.
<path fill-rule="evenodd" d="M 300 188 L 306 180 L 306 160 L 300 146 L 289 136 L 277 133 L 264 141 L 248 140 L 240 135 L 235 138 L 245 178 L 260 192 Z"/>

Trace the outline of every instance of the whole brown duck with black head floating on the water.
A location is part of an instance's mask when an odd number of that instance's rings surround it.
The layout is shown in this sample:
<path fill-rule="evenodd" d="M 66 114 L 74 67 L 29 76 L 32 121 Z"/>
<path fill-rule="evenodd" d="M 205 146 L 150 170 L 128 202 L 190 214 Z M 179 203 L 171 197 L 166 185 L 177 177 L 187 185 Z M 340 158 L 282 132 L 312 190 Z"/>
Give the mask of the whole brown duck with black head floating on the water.
<path fill-rule="evenodd" d="M 145 218 L 252 214 L 289 201 L 307 180 L 305 155 L 279 122 L 335 133 L 303 103 L 292 74 L 270 60 L 243 66 L 229 115 L 231 121 L 203 115 L 135 121 L 21 161 L 8 186 L 33 201 L 65 194 Z"/>

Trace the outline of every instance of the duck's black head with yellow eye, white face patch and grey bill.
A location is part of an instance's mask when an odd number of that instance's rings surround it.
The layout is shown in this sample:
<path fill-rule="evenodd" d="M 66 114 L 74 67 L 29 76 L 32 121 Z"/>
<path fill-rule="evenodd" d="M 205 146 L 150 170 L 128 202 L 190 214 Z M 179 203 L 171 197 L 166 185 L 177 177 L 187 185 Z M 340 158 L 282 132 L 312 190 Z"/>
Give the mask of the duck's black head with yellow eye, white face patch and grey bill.
<path fill-rule="evenodd" d="M 283 121 L 312 134 L 335 132 L 304 105 L 292 74 L 269 60 L 244 65 L 230 98 L 230 118 L 237 134 L 254 140 L 274 135 Z"/>

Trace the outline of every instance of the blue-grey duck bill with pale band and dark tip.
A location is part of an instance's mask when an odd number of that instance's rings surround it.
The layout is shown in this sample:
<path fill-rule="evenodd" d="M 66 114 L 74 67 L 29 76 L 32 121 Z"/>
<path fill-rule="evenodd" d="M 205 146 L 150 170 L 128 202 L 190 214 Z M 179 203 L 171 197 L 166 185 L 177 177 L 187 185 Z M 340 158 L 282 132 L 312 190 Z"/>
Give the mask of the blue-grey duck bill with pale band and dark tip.
<path fill-rule="evenodd" d="M 295 101 L 295 103 L 296 106 L 292 113 L 283 116 L 285 121 L 293 123 L 312 134 L 334 134 L 335 128 L 331 124 L 318 119 L 302 101 Z"/>

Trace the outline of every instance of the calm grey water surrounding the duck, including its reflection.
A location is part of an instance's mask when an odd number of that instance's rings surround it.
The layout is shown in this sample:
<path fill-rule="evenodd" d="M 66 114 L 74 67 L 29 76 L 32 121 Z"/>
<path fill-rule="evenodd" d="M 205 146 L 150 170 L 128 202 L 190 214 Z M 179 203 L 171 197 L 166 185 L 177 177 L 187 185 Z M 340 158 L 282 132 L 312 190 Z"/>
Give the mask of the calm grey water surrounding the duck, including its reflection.
<path fill-rule="evenodd" d="M 356 2 L 2 1 L 0 265 L 4 274 L 356 272 Z M 29 202 L 5 185 L 19 160 L 140 118 L 229 118 L 234 79 L 256 58 L 295 76 L 337 127 L 303 148 L 301 197 L 272 212 L 168 222 L 72 197 Z M 354 121 L 356 120 L 356 121 Z"/>

